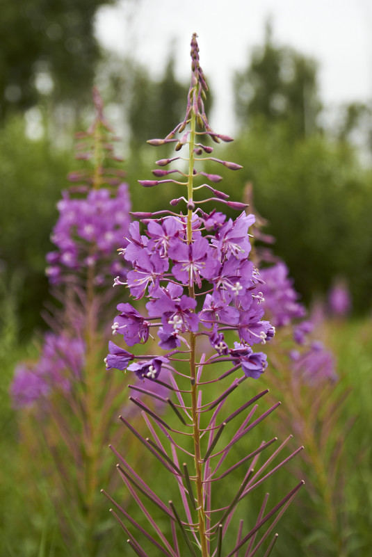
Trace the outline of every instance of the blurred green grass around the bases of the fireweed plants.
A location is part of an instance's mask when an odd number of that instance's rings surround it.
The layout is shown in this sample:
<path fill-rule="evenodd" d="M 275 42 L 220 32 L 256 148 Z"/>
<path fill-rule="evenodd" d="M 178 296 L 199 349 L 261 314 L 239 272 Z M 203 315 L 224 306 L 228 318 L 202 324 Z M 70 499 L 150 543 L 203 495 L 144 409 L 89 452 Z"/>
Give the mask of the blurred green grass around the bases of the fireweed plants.
<path fill-rule="evenodd" d="M 329 434 L 330 444 L 337 441 L 340 432 L 345 435 L 342 458 L 339 462 L 337 472 L 339 483 L 339 500 L 337 507 L 337 525 L 343 540 L 344 556 L 368 557 L 372 547 L 372 451 L 371 451 L 371 381 L 372 381 L 372 325 L 369 320 L 349 321 L 345 323 L 328 322 L 323 329 L 323 336 L 327 346 L 333 348 L 337 356 L 338 371 L 340 375 L 339 384 L 334 387 L 334 396 L 341 391 L 350 388 L 350 394 L 341 408 L 339 417 Z M 0 556 L 1 557 L 67 557 L 72 554 L 71 548 L 67 549 L 60 535 L 58 516 L 51 503 L 50 486 L 48 478 L 38 474 L 38 455 L 28 455 L 27 448 L 20 443 L 19 430 L 17 427 L 19 416 L 11 407 L 8 388 L 13 376 L 15 363 L 25 357 L 34 355 L 32 345 L 20 347 L 17 341 L 17 327 L 10 327 L 8 336 L 2 337 L 0 348 L 1 369 L 3 381 L 0 391 L 0 419 L 1 419 L 1 467 L 0 467 Z M 266 374 L 257 382 L 245 382 L 242 388 L 234 394 L 230 405 L 242 404 L 247 397 L 253 396 L 270 384 L 270 366 Z M 283 382 L 283 389 L 286 384 Z M 276 385 L 277 389 L 277 385 Z M 275 390 L 275 389 L 274 389 Z M 275 392 L 273 396 L 280 394 Z M 285 392 L 282 392 L 285 399 Z M 330 399 L 332 396 L 330 397 Z M 269 401 L 262 401 L 259 411 L 263 412 L 268 407 Z M 232 410 L 230 406 L 228 410 Z M 268 435 L 277 435 L 284 439 L 287 433 L 294 433 L 293 447 L 301 444 L 301 439 L 296 438 L 296 432 L 289 430 L 291 417 L 286 417 L 287 408 L 276 410 L 266 422 L 248 435 L 245 445 L 236 449 L 236 455 L 241 458 L 256 446 L 261 439 L 268 439 Z M 284 419 L 285 418 L 285 419 Z M 346 429 L 348 422 L 352 420 L 353 426 L 350 431 Z M 296 425 L 296 424 L 295 424 Z M 31 429 L 32 430 L 32 429 Z M 124 432 L 123 432 L 124 436 Z M 127 439 L 123 437 L 118 449 L 125 450 Z M 325 445 L 327 447 L 327 444 Z M 105 449 L 106 450 L 106 449 Z M 142 448 L 138 449 L 141 451 Z M 305 447 L 305 451 L 306 451 Z M 168 478 L 161 470 L 152 465 L 149 455 L 134 452 L 137 462 L 142 463 L 145 473 L 156 478 L 156 482 L 166 485 L 167 494 L 171 496 L 172 490 Z M 325 458 L 326 451 L 321 451 L 321 457 Z M 288 453 L 286 453 L 288 454 Z M 109 458 L 109 456 L 108 456 Z M 34 459 L 35 462 L 31 462 Z M 296 462 L 295 462 L 296 460 Z M 236 517 L 244 517 L 245 520 L 257 516 L 261 499 L 264 492 L 270 492 L 268 508 L 284 497 L 286 492 L 298 481 L 293 475 L 309 476 L 310 482 L 314 481 L 312 471 L 306 458 L 297 457 L 291 462 L 287 469 L 280 471 L 273 480 L 263 486 L 261 491 L 252 493 L 247 501 L 241 506 Z M 148 461 L 148 462 L 147 462 Z M 145 464 L 145 465 L 144 465 Z M 40 469 L 41 472 L 41 469 Z M 115 467 L 113 467 L 115 474 Z M 241 478 L 241 473 L 236 474 L 231 482 L 225 483 L 225 488 L 218 494 L 223 501 L 230 497 L 232 489 L 236 487 Z M 107 478 L 108 487 L 110 478 Z M 236 483 L 236 485 L 234 485 Z M 109 490 L 109 489 L 108 489 Z M 115 493 L 118 501 L 124 501 L 124 487 L 111 490 Z M 110 557 L 122 557 L 129 554 L 126 536 L 116 526 L 114 519 L 108 514 L 104 515 L 100 523 L 99 535 L 107 544 L 102 547 L 110 547 L 109 551 L 101 554 Z M 59 509 L 60 510 L 60 509 Z M 129 511 L 138 520 L 142 520 L 135 506 L 129 506 Z M 71 517 L 72 519 L 74 517 Z M 167 528 L 164 524 L 164 528 Z M 329 524 L 327 524 L 327 512 L 322 494 L 312 493 L 309 486 L 300 492 L 296 501 L 292 504 L 282 521 L 277 526 L 280 538 L 275 545 L 273 554 L 279 557 L 339 557 L 341 554 L 334 549 L 334 540 Z M 228 540 L 226 540 L 226 544 Z M 226 546 L 227 547 L 227 546 Z M 96 557 L 99 553 L 89 554 L 83 549 L 77 549 L 73 553 L 81 557 Z M 152 557 L 157 557 L 151 554 Z"/>

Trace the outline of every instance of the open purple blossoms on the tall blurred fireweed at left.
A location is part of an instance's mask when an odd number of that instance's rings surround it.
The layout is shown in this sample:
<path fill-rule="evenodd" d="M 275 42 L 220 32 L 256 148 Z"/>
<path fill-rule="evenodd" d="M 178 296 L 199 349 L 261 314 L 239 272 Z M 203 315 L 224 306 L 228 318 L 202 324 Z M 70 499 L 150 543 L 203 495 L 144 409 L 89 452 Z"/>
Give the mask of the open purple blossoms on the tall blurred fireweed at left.
<path fill-rule="evenodd" d="M 51 234 L 57 250 L 47 255 L 50 282 L 58 284 L 66 273 L 83 273 L 91 266 L 97 268 L 97 284 L 108 275 L 124 277 L 124 266 L 113 261 L 112 254 L 118 245 L 124 247 L 123 236 L 129 227 L 131 203 L 127 184 L 120 184 L 114 194 L 101 188 L 80 199 L 64 191 L 57 207 L 59 217 Z"/>

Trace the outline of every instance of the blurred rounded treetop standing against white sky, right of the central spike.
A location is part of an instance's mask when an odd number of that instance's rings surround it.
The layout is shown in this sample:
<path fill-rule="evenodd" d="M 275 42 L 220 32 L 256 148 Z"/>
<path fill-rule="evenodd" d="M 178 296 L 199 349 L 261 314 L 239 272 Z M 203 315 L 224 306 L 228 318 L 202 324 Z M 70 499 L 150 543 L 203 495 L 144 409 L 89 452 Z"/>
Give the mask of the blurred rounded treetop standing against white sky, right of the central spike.
<path fill-rule="evenodd" d="M 321 110 L 316 72 L 315 60 L 275 44 L 268 23 L 264 45 L 254 49 L 248 67 L 234 78 L 241 127 L 259 118 L 268 124 L 285 122 L 292 138 L 311 134 Z"/>

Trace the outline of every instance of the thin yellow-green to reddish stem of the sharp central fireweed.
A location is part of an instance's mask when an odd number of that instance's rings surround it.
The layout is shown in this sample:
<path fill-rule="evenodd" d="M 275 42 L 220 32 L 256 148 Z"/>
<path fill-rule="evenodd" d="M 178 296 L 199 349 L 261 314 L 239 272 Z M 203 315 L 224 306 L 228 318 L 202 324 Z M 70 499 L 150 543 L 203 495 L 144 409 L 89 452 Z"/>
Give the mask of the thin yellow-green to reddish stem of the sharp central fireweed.
<path fill-rule="evenodd" d="M 189 140 L 189 159 L 188 159 L 188 184 L 187 184 L 187 199 L 189 208 L 187 213 L 187 241 L 191 243 L 193 239 L 192 218 L 193 218 L 193 170 L 195 161 L 195 114 L 191 115 L 191 132 Z M 188 286 L 188 294 L 190 298 L 195 300 L 195 291 L 192 282 Z M 198 530 L 200 537 L 200 546 L 202 549 L 202 557 L 209 557 L 207 546 L 207 535 L 205 529 L 205 510 L 203 501 L 203 462 L 200 449 L 200 429 L 199 429 L 199 414 L 197 411 L 197 380 L 196 380 L 196 365 L 195 365 L 195 344 L 196 335 L 190 333 L 190 378 L 191 378 L 191 416 L 193 419 L 193 441 L 194 441 L 194 458 L 195 458 L 195 476 L 196 476 L 196 493 L 197 493 L 197 516 L 198 516 Z"/>

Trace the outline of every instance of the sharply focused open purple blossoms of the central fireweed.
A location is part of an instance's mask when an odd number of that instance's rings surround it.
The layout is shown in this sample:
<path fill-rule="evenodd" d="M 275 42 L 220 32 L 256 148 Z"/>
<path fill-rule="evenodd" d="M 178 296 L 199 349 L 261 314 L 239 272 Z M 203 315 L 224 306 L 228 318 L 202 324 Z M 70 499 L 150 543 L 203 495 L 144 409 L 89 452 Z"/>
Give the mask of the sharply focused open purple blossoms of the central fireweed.
<path fill-rule="evenodd" d="M 138 222 L 129 227 L 129 244 L 122 251 L 131 270 L 126 282 L 116 277 L 115 284 L 125 284 L 136 300 L 148 298 L 147 312 L 141 314 L 129 303 L 119 304 L 113 334 L 122 334 L 127 346 L 134 346 L 144 344 L 155 328 L 160 348 L 173 354 L 181 344 L 188 348 L 188 332 L 204 334 L 213 348 L 213 360 L 232 360 L 246 376 L 257 378 L 266 369 L 266 355 L 253 353 L 250 346 L 265 344 L 275 331 L 263 319 L 261 296 L 255 293 L 261 278 L 249 259 L 248 238 L 254 216 L 243 212 L 232 220 L 215 211 L 194 211 L 190 242 L 182 215 L 144 218 L 143 222 L 144 234 Z M 238 332 L 234 348 L 225 340 L 225 332 L 231 330 Z M 134 355 L 112 342 L 109 348 L 107 369 L 127 368 L 156 379 L 161 366 L 170 363 L 168 357 L 158 356 L 129 365 Z"/>

